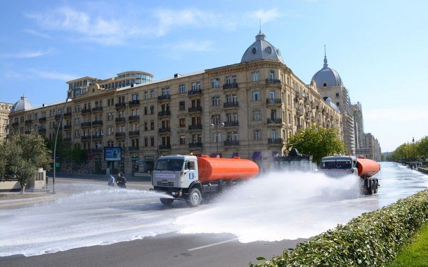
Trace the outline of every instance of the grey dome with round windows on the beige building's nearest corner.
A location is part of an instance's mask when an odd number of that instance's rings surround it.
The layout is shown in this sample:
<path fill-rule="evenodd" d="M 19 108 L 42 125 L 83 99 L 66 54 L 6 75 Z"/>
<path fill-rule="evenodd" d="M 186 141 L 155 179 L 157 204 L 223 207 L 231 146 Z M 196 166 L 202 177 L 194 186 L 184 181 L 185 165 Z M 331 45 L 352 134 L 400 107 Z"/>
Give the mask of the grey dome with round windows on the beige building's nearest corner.
<path fill-rule="evenodd" d="M 256 41 L 245 50 L 241 63 L 260 59 L 276 59 L 284 63 L 279 49 L 276 49 L 265 39 L 266 36 L 260 31 L 259 34 L 256 35 Z"/>

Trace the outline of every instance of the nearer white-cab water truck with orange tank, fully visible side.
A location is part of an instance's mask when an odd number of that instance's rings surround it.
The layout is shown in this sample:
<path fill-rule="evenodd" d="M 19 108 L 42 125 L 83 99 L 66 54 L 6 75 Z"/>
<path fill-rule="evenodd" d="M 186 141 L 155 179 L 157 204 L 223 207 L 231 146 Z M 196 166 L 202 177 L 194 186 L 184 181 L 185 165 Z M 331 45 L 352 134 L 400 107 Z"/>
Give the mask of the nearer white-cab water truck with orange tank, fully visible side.
<path fill-rule="evenodd" d="M 174 199 L 179 199 L 190 207 L 197 207 L 202 198 L 209 198 L 225 187 L 253 178 L 258 173 L 257 164 L 239 157 L 170 155 L 156 161 L 152 184 L 155 191 L 173 197 L 161 198 L 162 204 L 168 206 Z"/>

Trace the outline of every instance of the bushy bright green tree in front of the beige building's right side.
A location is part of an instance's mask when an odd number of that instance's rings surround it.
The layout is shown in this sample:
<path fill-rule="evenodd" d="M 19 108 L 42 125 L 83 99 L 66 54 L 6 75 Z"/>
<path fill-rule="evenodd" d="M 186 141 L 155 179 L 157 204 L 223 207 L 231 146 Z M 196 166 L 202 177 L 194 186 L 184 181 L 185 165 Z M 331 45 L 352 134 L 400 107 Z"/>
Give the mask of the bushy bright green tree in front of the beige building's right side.
<path fill-rule="evenodd" d="M 317 164 L 325 156 L 342 154 L 345 151 L 345 145 L 336 128 L 318 128 L 315 123 L 311 128 L 303 129 L 298 135 L 289 138 L 286 146 L 288 150 L 296 148 L 303 154 L 312 155 Z"/>

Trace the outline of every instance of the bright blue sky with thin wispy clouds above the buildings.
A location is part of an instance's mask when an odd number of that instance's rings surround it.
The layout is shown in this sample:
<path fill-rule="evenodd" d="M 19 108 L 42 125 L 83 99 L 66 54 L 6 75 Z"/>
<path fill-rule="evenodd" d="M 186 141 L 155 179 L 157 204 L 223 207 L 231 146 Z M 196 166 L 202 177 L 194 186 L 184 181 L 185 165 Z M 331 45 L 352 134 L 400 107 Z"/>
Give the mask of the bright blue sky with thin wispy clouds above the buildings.
<path fill-rule="evenodd" d="M 426 1 L 2 1 L 0 101 L 39 106 L 66 84 L 128 70 L 156 79 L 238 63 L 261 29 L 304 82 L 324 44 L 383 151 L 428 135 Z"/>

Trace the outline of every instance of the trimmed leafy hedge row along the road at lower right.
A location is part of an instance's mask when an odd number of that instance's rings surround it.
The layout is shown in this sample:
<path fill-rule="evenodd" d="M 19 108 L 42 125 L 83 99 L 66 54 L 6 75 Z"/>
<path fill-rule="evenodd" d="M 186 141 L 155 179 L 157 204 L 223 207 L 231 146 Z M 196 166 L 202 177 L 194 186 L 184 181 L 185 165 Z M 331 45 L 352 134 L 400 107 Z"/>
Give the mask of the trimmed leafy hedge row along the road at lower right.
<path fill-rule="evenodd" d="M 428 222 L 428 189 L 363 213 L 254 266 L 384 266 Z M 265 260 L 263 257 L 258 260 Z"/>

